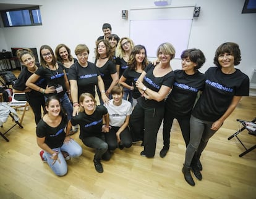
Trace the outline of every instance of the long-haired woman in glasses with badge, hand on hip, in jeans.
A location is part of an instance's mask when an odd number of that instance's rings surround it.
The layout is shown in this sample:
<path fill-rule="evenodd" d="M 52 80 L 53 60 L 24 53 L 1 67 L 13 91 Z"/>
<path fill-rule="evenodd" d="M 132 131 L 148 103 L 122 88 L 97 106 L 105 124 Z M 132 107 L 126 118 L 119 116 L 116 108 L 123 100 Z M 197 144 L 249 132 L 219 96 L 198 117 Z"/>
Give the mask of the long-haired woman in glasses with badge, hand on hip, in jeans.
<path fill-rule="evenodd" d="M 57 95 L 61 101 L 62 107 L 67 112 L 67 120 L 72 116 L 72 105 L 70 103 L 70 86 L 67 75 L 62 63 L 57 62 L 54 52 L 48 45 L 40 47 L 40 67 L 28 78 L 26 86 L 35 91 L 41 92 L 46 99 L 52 95 Z M 36 85 L 40 78 L 46 81 L 46 87 Z"/>

